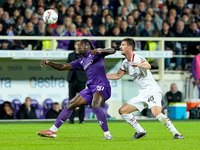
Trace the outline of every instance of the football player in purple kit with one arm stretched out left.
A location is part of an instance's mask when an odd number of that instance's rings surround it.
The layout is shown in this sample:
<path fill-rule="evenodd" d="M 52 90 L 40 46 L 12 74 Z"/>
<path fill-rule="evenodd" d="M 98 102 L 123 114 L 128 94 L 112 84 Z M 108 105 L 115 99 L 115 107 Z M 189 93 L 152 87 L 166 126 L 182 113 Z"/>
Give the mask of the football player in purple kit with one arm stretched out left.
<path fill-rule="evenodd" d="M 112 140 L 113 137 L 109 132 L 106 116 L 101 107 L 111 95 L 110 83 L 106 77 L 106 72 L 104 69 L 104 57 L 106 55 L 114 54 L 115 49 L 95 49 L 90 40 L 83 39 L 79 43 L 79 52 L 83 55 L 83 57 L 69 64 L 60 64 L 48 60 L 41 61 L 41 66 L 49 65 L 52 68 L 60 71 L 69 69 L 85 70 L 88 77 L 88 88 L 82 90 L 68 102 L 50 129 L 38 131 L 37 134 L 46 137 L 56 137 L 57 130 L 67 119 L 69 119 L 73 110 L 81 105 L 89 104 L 92 106 L 93 111 L 97 116 L 99 125 L 104 131 L 104 139 Z"/>

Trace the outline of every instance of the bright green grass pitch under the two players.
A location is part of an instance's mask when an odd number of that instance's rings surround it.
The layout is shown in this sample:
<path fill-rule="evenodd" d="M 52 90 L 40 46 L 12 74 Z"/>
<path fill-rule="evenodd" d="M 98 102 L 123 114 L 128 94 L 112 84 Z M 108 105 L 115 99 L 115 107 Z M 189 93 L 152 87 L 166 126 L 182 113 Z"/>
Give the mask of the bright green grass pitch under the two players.
<path fill-rule="evenodd" d="M 139 121 L 147 136 L 130 140 L 135 130 L 124 121 L 108 121 L 114 138 L 103 140 L 97 121 L 85 124 L 67 124 L 59 129 L 57 138 L 36 135 L 38 130 L 51 127 L 53 122 L 3 123 L 0 122 L 0 150 L 198 150 L 200 149 L 200 121 L 175 121 L 173 124 L 185 136 L 173 140 L 172 134 L 158 121 Z"/>

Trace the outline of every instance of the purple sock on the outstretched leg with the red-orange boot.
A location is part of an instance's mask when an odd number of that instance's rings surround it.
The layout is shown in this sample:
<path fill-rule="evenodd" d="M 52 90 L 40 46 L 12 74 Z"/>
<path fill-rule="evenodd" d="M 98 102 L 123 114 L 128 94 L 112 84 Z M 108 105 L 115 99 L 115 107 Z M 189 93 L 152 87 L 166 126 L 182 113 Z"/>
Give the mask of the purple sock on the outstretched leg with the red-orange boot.
<path fill-rule="evenodd" d="M 58 118 L 56 119 L 56 122 L 54 123 L 54 125 L 57 128 L 60 128 L 60 126 L 67 120 L 69 119 L 69 117 L 72 114 L 72 110 L 68 109 L 66 106 L 64 107 L 64 109 L 60 112 Z"/>

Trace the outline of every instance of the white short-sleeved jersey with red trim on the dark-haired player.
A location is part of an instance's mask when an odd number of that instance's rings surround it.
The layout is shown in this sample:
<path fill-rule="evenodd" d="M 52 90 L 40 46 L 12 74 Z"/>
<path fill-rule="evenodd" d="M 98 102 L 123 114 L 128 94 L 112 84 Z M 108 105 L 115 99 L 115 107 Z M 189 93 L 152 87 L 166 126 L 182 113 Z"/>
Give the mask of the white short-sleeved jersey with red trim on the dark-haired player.
<path fill-rule="evenodd" d="M 131 62 L 125 59 L 122 63 L 120 70 L 128 73 L 133 79 L 133 81 L 137 85 L 139 85 L 140 87 L 139 93 L 142 93 L 144 95 L 149 95 L 152 92 L 161 93 L 161 89 L 156 83 L 156 81 L 153 79 L 153 76 L 149 69 L 132 66 L 132 62 L 140 64 L 145 61 L 146 59 L 144 57 L 133 53 L 131 57 Z"/>

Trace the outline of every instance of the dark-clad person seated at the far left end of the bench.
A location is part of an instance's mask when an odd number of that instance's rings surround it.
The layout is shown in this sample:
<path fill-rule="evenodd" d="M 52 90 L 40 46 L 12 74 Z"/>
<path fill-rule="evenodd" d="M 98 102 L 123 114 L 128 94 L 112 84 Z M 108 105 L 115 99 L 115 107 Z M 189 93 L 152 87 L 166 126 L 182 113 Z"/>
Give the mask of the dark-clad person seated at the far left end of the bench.
<path fill-rule="evenodd" d="M 5 101 L 3 105 L 0 106 L 0 119 L 14 119 L 10 102 Z"/>

